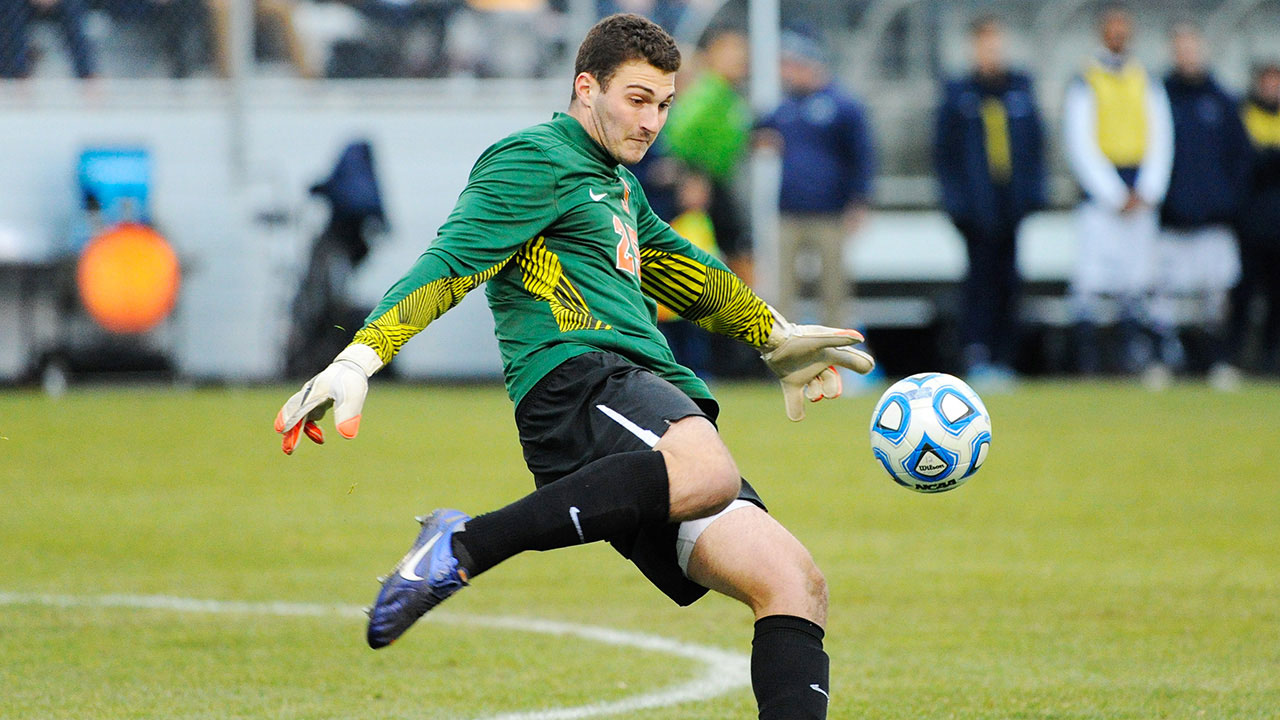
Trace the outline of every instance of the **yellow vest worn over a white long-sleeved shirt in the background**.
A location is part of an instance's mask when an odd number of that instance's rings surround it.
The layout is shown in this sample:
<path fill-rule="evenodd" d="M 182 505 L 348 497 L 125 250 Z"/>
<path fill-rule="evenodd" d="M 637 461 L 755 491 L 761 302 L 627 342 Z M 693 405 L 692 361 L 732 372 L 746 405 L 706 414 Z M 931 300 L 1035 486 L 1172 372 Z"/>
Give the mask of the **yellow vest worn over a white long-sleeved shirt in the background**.
<path fill-rule="evenodd" d="M 1130 60 L 1119 72 L 1094 61 L 1084 70 L 1097 106 L 1098 150 L 1117 168 L 1134 168 L 1147 154 L 1147 73 Z"/>

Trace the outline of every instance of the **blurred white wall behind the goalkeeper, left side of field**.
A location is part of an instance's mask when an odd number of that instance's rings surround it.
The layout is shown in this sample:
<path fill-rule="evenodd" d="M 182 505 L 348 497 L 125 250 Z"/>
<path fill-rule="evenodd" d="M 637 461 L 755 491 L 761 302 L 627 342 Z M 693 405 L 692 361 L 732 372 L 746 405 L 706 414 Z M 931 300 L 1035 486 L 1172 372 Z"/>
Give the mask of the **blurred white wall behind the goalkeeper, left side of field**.
<path fill-rule="evenodd" d="M 0 228 L 20 238 L 26 258 L 56 254 L 79 217 L 79 151 L 92 145 L 148 149 L 152 214 L 184 264 L 170 333 L 179 370 L 271 378 L 280 366 L 301 263 L 324 219 L 307 188 L 328 176 L 340 149 L 356 138 L 372 143 L 390 222 L 385 243 L 355 282 L 360 301 L 371 306 L 425 250 L 480 151 L 563 106 L 564 94 L 554 92 L 559 86 L 540 90 L 536 83 L 422 92 L 398 83 L 264 82 L 237 123 L 216 83 L 132 82 L 88 92 L 76 83 L 0 85 Z M 243 127 L 243 173 L 233 161 L 237 127 Z M 262 210 L 284 210 L 289 223 L 256 222 Z M 13 301 L 0 293 L 0 313 L 14 316 Z M 17 323 L 0 323 L 0 378 L 13 377 L 40 347 L 29 346 L 31 334 Z M 403 373 L 499 370 L 480 293 L 426 337 L 435 342 L 411 343 L 397 359 Z"/>

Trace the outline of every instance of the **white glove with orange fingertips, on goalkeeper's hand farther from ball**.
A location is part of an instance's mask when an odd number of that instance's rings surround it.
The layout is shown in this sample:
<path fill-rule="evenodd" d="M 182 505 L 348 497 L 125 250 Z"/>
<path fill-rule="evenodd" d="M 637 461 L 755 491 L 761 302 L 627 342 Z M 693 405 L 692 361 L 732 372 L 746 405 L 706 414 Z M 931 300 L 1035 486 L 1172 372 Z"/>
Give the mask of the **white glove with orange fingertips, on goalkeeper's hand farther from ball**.
<path fill-rule="evenodd" d="M 284 454 L 293 455 L 303 433 L 311 442 L 324 443 L 324 432 L 316 420 L 324 418 L 330 405 L 338 433 L 344 438 L 356 437 L 360 432 L 360 411 L 369 393 L 369 377 L 381 366 L 383 360 L 372 347 L 355 343 L 339 352 L 320 374 L 307 380 L 275 415 L 275 432 L 284 436 Z"/>

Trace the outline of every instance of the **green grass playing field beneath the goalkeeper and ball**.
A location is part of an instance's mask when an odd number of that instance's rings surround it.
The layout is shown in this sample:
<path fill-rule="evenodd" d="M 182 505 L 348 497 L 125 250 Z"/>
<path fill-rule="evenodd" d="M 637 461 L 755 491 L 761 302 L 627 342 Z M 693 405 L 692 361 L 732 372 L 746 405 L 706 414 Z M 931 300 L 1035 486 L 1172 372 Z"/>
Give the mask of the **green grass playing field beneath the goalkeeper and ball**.
<path fill-rule="evenodd" d="M 372 601 L 415 514 L 530 489 L 511 407 L 497 387 L 375 384 L 358 439 L 285 457 L 270 424 L 291 391 L 0 393 L 0 717 L 556 717 L 529 712 L 705 671 L 477 616 L 748 653 L 744 607 L 678 609 L 604 546 L 520 556 L 367 650 L 346 609 Z M 832 719 L 1280 717 L 1280 387 L 992 395 L 989 461 L 941 496 L 876 465 L 874 396 L 791 424 L 772 386 L 717 392 L 744 474 L 827 573 Z M 754 703 L 739 687 L 618 716 Z"/>

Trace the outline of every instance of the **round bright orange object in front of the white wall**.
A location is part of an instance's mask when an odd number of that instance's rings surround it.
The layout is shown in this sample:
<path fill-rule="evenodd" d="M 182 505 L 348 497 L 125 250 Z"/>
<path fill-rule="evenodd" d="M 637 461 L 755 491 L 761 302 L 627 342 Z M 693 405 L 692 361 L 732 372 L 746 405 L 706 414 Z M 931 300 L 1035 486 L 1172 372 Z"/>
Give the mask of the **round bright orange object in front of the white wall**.
<path fill-rule="evenodd" d="M 114 333 L 141 333 L 159 325 L 178 300 L 178 256 L 156 231 L 120 223 L 84 247 L 76 284 L 88 314 Z"/>

